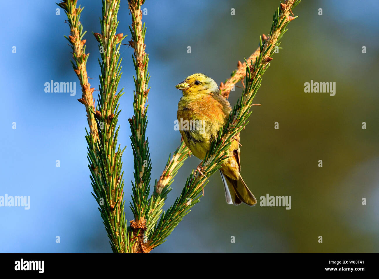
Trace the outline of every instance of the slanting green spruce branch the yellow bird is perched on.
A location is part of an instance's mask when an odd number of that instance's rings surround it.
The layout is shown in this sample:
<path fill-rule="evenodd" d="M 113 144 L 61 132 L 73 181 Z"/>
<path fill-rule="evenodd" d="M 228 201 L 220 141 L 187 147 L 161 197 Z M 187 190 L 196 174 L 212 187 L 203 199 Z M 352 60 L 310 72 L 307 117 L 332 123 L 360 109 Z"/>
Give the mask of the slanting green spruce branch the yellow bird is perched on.
<path fill-rule="evenodd" d="M 174 204 L 162 214 L 160 221 L 151 233 L 149 246 L 154 248 L 165 241 L 165 238 L 182 221 L 183 217 L 189 213 L 190 208 L 199 202 L 202 196 L 202 188 L 208 183 L 208 177 L 221 168 L 224 159 L 229 156 L 228 150 L 233 139 L 244 129 L 251 115 L 249 111 L 252 100 L 257 93 L 262 75 L 270 65 L 269 61 L 273 58 L 274 47 L 278 46 L 278 41 L 287 31 L 287 24 L 296 17 L 289 16 L 291 9 L 298 5 L 299 0 L 288 0 L 280 5 L 275 11 L 273 24 L 266 39 L 260 37 L 260 53 L 255 59 L 248 63 L 245 59 L 245 86 L 241 98 L 233 107 L 229 119 L 224 129 L 220 129 L 218 139 L 213 142 L 210 152 L 208 152 L 202 162 L 202 167 L 207 177 L 195 175 L 193 171 L 187 178 L 182 194 Z M 249 65 L 250 64 L 250 65 Z"/>

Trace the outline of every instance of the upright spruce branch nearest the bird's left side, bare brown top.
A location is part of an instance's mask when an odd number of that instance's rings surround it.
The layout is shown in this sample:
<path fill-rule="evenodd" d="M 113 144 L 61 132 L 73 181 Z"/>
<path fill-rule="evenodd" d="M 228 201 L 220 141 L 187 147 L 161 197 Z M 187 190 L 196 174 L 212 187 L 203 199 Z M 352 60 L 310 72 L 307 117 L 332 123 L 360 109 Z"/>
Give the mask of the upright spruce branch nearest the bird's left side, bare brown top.
<path fill-rule="evenodd" d="M 132 182 L 132 200 L 130 208 L 133 211 L 134 220 L 130 221 L 131 231 L 135 243 L 132 246 L 133 252 L 146 252 L 144 249 L 143 236 L 147 230 L 147 214 L 151 211 L 149 204 L 150 179 L 151 179 L 151 159 L 149 151 L 149 139 L 146 138 L 147 128 L 147 95 L 149 73 L 147 65 L 149 55 L 145 52 L 146 27 L 142 24 L 141 5 L 144 0 L 128 0 L 128 7 L 132 14 L 132 26 L 129 26 L 132 40 L 129 45 L 134 49 L 132 56 L 136 76 L 134 77 L 134 115 L 129 119 L 132 136 L 133 156 L 134 156 L 134 183 Z M 147 251 L 148 252 L 148 251 Z"/>

